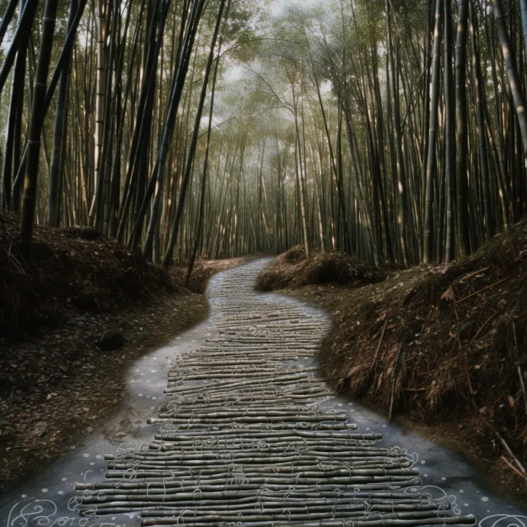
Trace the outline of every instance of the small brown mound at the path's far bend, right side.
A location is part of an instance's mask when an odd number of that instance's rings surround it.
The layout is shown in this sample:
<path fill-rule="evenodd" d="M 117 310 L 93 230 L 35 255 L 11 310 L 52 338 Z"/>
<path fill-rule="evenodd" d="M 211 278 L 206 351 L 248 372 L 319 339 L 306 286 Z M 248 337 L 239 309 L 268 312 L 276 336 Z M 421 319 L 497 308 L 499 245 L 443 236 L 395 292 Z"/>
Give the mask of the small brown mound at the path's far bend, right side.
<path fill-rule="evenodd" d="M 306 258 L 304 247 L 297 245 L 270 262 L 258 277 L 257 289 L 273 291 L 329 283 L 349 287 L 375 284 L 386 277 L 385 269 L 344 252 L 314 252 Z"/>

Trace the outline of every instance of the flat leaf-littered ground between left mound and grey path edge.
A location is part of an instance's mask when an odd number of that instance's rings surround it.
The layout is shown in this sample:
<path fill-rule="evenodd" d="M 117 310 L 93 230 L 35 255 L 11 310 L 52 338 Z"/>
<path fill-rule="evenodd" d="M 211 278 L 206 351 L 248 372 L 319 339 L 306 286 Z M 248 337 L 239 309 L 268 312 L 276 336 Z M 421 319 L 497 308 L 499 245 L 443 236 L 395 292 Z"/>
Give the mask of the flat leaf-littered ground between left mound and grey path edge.
<path fill-rule="evenodd" d="M 0 494 L 84 444 L 125 399 L 133 361 L 167 344 L 207 310 L 203 295 L 161 291 L 147 305 L 86 311 L 56 330 L 0 344 Z M 108 328 L 124 334 L 121 349 L 99 346 Z M 116 434 L 116 443 L 122 435 Z"/>

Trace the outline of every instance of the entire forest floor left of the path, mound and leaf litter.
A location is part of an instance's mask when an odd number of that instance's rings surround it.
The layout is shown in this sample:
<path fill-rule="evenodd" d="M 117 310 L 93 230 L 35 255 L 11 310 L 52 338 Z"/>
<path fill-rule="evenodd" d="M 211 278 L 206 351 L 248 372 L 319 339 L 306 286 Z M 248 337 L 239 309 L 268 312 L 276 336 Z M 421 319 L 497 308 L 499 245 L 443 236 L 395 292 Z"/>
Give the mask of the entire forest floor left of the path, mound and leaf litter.
<path fill-rule="evenodd" d="M 41 472 L 123 401 L 132 362 L 208 312 L 210 276 L 247 258 L 198 260 L 167 275 L 90 229 L 35 229 L 0 212 L 0 493 Z M 99 338 L 118 329 L 124 346 Z"/>

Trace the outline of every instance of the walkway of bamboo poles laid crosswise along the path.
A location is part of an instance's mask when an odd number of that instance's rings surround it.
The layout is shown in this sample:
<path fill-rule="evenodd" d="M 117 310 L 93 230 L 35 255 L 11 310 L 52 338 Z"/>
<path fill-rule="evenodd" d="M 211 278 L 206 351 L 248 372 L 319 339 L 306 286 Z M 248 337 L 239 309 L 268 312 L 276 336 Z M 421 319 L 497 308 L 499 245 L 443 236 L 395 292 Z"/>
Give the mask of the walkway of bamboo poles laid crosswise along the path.
<path fill-rule="evenodd" d="M 261 266 L 222 274 L 219 319 L 169 370 L 152 442 L 106 455 L 104 481 L 76 484 L 81 514 L 141 511 L 145 527 L 475 523 L 421 491 L 415 456 L 320 406 L 334 393 L 301 360 L 329 320 L 254 292 Z"/>

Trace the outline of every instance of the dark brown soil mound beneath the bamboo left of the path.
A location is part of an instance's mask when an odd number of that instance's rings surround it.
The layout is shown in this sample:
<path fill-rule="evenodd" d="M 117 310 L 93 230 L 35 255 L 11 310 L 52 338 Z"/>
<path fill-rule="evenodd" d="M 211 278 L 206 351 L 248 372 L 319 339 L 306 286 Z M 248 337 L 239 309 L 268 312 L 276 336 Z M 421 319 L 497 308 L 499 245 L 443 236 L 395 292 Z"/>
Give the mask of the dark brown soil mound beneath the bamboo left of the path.
<path fill-rule="evenodd" d="M 174 288 L 160 267 L 93 229 L 35 227 L 24 250 L 19 219 L 0 213 L 0 333 L 55 328 L 73 313 L 148 300 Z M 97 236 L 95 236 L 95 234 Z"/>

